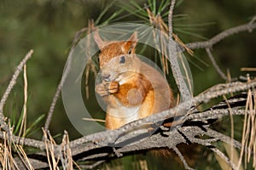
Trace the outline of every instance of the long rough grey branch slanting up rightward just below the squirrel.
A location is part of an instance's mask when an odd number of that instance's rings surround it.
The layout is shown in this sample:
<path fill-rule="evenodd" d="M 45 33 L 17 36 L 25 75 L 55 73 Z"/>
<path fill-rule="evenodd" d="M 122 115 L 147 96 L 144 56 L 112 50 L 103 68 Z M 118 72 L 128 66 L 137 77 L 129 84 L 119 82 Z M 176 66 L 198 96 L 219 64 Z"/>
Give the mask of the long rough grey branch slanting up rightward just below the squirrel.
<path fill-rule="evenodd" d="M 191 99 L 193 103 L 202 103 L 207 102 L 210 99 L 214 99 L 218 96 L 222 96 L 224 94 L 230 94 L 230 93 L 236 93 L 239 91 L 245 91 L 249 88 L 256 87 L 256 80 L 252 82 L 244 82 L 244 83 L 227 83 L 225 87 L 219 88 L 218 91 L 215 91 L 212 93 L 212 91 L 207 92 L 206 94 L 201 94 L 199 96 L 196 96 L 195 98 Z M 91 141 L 99 141 L 102 145 L 108 144 L 108 143 L 114 143 L 117 139 L 119 139 L 119 136 L 122 136 L 125 132 L 132 131 L 133 129 L 136 129 L 137 127 L 142 127 L 143 124 L 152 123 L 152 122 L 160 122 L 166 119 L 166 117 L 173 117 L 173 116 L 183 116 L 184 109 L 188 106 L 188 104 L 191 101 L 183 102 L 180 105 L 177 105 L 175 108 L 169 110 L 169 111 L 162 111 L 159 114 L 154 114 L 152 116 L 148 116 L 144 119 L 140 119 L 135 122 L 131 122 L 129 124 L 126 124 L 124 127 L 120 127 L 116 130 L 108 130 L 106 132 L 102 133 L 94 133 L 90 134 L 88 136 L 84 136 L 80 139 L 73 140 L 70 144 L 71 147 L 75 148 L 79 144 L 85 144 L 90 143 Z M 186 112 L 185 112 L 186 113 Z M 185 120 L 182 120 L 183 122 Z"/>

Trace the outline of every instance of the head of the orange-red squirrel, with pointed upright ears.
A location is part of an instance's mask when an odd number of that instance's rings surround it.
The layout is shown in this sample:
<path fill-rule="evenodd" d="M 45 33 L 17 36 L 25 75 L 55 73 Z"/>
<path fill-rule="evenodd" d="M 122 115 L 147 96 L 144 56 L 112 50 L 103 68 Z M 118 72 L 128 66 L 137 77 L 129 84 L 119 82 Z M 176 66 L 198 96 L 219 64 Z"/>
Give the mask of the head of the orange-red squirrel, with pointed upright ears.
<path fill-rule="evenodd" d="M 102 38 L 96 31 L 94 40 L 101 50 L 99 62 L 102 78 L 105 81 L 121 83 L 132 72 L 136 72 L 136 65 L 138 64 L 134 58 L 136 58 L 137 32 L 134 32 L 127 41 L 106 42 L 102 41 Z"/>

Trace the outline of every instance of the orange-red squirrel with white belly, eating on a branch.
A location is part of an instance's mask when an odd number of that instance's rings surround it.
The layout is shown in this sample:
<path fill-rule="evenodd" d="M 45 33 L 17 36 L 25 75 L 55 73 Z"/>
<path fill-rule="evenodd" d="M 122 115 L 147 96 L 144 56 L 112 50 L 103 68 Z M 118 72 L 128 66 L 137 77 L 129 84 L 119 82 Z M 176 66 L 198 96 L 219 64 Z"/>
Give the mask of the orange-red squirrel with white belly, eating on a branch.
<path fill-rule="evenodd" d="M 172 88 L 165 77 L 135 54 L 137 32 L 126 41 L 103 41 L 96 31 L 94 40 L 100 49 L 102 82 L 96 93 L 107 103 L 105 126 L 119 128 L 126 123 L 173 107 Z"/>

